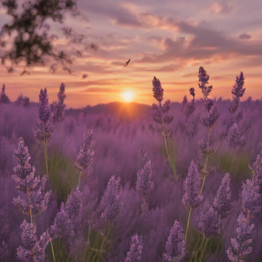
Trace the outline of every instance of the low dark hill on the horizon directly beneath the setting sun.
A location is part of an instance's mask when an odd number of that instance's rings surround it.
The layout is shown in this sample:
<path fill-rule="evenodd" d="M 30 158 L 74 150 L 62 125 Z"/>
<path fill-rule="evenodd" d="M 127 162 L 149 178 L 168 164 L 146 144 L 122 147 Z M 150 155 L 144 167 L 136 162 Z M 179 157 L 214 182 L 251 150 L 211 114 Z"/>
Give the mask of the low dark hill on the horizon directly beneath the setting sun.
<path fill-rule="evenodd" d="M 171 103 L 171 110 L 177 110 L 180 108 L 181 104 L 178 102 Z M 115 115 L 121 120 L 133 121 L 135 119 L 143 120 L 150 117 L 151 105 L 139 104 L 136 102 L 130 103 L 121 103 L 121 102 L 111 102 L 108 104 L 97 104 L 94 106 L 87 105 L 81 109 L 65 110 L 65 115 L 72 115 L 77 117 L 80 112 L 84 113 L 84 116 L 87 114 L 111 114 Z"/>

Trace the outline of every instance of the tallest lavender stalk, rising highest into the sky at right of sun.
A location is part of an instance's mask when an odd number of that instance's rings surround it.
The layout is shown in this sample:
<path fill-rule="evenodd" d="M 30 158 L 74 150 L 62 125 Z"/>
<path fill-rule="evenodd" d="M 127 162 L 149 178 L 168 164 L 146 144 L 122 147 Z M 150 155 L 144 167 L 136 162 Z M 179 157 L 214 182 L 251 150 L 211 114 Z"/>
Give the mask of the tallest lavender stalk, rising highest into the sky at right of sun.
<path fill-rule="evenodd" d="M 202 194 L 206 174 L 209 174 L 209 170 L 207 168 L 208 157 L 214 153 L 214 150 L 211 148 L 211 130 L 215 127 L 217 120 L 219 119 L 219 113 L 217 112 L 217 107 L 214 106 L 212 100 L 208 99 L 210 92 L 212 91 L 212 85 L 207 86 L 209 80 L 209 75 L 205 71 L 203 67 L 199 68 L 199 88 L 202 90 L 202 94 L 204 98 L 202 98 L 202 103 L 204 106 L 205 115 L 201 117 L 201 123 L 207 127 L 208 135 L 207 135 L 207 143 L 204 146 L 203 150 L 206 152 L 203 156 L 205 157 L 205 163 L 203 168 L 204 179 L 201 187 L 200 194 Z M 200 140 L 199 143 L 204 145 L 204 141 Z"/>

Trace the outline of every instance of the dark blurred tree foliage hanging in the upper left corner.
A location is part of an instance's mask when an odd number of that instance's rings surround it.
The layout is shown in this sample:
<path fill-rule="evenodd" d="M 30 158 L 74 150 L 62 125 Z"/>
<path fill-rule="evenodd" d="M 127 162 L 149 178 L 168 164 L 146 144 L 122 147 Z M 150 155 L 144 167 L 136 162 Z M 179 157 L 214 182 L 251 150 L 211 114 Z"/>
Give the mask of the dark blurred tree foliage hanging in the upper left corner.
<path fill-rule="evenodd" d="M 5 24 L 0 32 L 0 45 L 3 50 L 0 56 L 9 73 L 21 62 L 25 64 L 21 75 L 29 68 L 45 65 L 47 62 L 51 62 L 52 72 L 57 70 L 59 64 L 63 70 L 72 72 L 68 65 L 73 63 L 73 59 L 64 51 L 54 50 L 53 40 L 57 36 L 49 35 L 50 25 L 47 19 L 51 18 L 53 22 L 63 24 L 65 12 L 69 11 L 73 16 L 79 16 L 81 13 L 75 0 L 24 1 L 21 6 L 17 4 L 21 1 L 16 0 L 0 2 L 7 9 L 7 14 L 12 16 L 11 23 Z M 67 39 L 71 38 L 71 43 L 80 43 L 84 38 L 83 35 L 73 34 L 71 28 L 64 27 L 62 32 Z M 11 48 L 8 48 L 6 36 L 11 40 Z M 97 47 L 92 43 L 86 46 L 87 48 L 96 50 Z M 77 55 L 81 55 L 81 52 L 77 51 Z"/>

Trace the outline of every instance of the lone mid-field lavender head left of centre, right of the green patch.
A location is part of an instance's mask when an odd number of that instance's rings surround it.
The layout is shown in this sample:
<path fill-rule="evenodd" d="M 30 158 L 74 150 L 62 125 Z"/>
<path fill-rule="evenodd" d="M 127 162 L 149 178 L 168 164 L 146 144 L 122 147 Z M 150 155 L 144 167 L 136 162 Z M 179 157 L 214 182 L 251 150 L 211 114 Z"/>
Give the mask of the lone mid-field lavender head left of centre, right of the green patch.
<path fill-rule="evenodd" d="M 93 157 L 95 155 L 95 151 L 91 148 L 93 144 L 93 130 L 86 129 L 84 133 L 84 142 L 82 147 L 80 148 L 79 154 L 76 158 L 75 167 L 80 172 L 81 177 L 90 176 L 93 170 Z"/>

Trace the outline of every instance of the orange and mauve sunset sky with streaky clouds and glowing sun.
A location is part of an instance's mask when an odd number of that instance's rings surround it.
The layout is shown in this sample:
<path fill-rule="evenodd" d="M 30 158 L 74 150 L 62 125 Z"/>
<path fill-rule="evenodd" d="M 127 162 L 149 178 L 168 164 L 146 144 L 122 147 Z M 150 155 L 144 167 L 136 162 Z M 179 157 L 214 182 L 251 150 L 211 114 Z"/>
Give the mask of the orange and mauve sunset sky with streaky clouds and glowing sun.
<path fill-rule="evenodd" d="M 262 97 L 260 0 L 79 0 L 78 8 L 81 15 L 67 14 L 64 25 L 50 21 L 50 32 L 57 36 L 54 47 L 72 55 L 73 72 L 60 67 L 51 73 L 47 64 L 20 76 L 22 65 L 13 74 L 0 65 L 0 85 L 5 84 L 11 101 L 20 92 L 38 101 L 45 87 L 49 101 L 55 101 L 63 82 L 68 108 L 114 101 L 152 104 L 154 76 L 161 81 L 164 101 L 181 102 L 192 87 L 199 99 L 200 66 L 210 76 L 210 98 L 232 99 L 232 85 L 241 72 L 246 88 L 242 100 Z M 10 22 L 5 12 L 1 7 L 1 28 Z M 63 26 L 83 35 L 82 43 L 69 44 Z M 86 49 L 91 43 L 97 50 Z"/>

